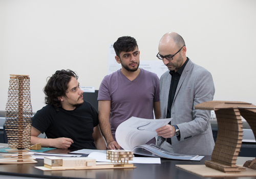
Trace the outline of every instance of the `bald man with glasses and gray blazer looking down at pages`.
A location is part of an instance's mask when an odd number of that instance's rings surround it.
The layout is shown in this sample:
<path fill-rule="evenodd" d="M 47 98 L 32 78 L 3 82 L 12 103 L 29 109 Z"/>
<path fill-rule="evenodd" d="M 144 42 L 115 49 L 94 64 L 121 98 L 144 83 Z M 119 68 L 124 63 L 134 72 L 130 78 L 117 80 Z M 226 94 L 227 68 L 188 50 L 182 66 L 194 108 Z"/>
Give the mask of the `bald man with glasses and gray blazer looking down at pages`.
<path fill-rule="evenodd" d="M 161 118 L 173 120 L 156 130 L 157 145 L 175 153 L 211 155 L 210 111 L 195 109 L 214 98 L 210 72 L 186 57 L 185 41 L 175 32 L 161 38 L 158 50 L 157 58 L 169 70 L 160 78 Z"/>

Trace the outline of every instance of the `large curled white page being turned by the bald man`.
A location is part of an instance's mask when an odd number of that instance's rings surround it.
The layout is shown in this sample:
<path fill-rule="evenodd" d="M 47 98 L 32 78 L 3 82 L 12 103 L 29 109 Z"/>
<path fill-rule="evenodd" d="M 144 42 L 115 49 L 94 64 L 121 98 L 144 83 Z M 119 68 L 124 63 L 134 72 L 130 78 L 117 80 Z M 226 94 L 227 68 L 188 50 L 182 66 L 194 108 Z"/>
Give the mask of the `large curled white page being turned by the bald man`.
<path fill-rule="evenodd" d="M 133 150 L 157 136 L 156 129 L 168 124 L 168 119 L 142 119 L 131 117 L 116 129 L 116 141 L 125 150 Z"/>

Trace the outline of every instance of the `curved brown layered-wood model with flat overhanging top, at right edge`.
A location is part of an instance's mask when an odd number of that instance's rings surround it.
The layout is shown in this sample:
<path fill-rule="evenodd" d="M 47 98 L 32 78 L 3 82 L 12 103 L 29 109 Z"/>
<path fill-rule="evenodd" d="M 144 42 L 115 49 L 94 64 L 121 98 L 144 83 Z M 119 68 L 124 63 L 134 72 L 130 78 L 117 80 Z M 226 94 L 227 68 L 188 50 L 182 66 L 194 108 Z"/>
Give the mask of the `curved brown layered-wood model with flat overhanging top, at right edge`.
<path fill-rule="evenodd" d="M 243 139 L 241 116 L 250 125 L 256 138 L 256 106 L 237 101 L 207 101 L 195 106 L 196 109 L 215 110 L 218 121 L 218 135 L 211 160 L 205 165 L 226 173 L 245 171 L 236 166 Z M 256 170 L 256 159 L 247 161 L 244 167 Z"/>

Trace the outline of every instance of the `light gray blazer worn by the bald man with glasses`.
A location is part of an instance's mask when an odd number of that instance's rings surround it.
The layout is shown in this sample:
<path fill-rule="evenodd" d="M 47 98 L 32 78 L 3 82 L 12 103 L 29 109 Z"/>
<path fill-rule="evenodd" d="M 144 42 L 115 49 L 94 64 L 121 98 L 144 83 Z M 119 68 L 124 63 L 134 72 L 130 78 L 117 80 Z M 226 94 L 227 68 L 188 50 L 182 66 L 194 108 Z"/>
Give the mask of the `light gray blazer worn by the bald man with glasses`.
<path fill-rule="evenodd" d="M 169 71 L 160 78 L 161 118 L 166 118 L 170 81 Z M 171 117 L 172 125 L 180 129 L 180 138 L 172 137 L 175 153 L 211 155 L 214 138 L 210 126 L 210 110 L 195 109 L 195 105 L 211 101 L 215 87 L 210 72 L 193 63 L 187 62 L 176 89 Z"/>

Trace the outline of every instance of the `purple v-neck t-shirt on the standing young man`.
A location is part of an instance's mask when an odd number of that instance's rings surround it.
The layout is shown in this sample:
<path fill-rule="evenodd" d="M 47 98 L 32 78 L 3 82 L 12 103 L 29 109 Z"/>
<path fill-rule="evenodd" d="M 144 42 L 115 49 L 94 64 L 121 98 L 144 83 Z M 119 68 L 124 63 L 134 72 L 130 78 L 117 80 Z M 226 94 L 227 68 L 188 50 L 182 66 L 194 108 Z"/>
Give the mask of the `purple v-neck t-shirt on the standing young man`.
<path fill-rule="evenodd" d="M 159 78 L 155 73 L 140 69 L 139 75 L 130 81 L 121 70 L 102 80 L 98 100 L 111 101 L 111 131 L 115 139 L 116 128 L 131 118 L 154 119 L 154 102 L 159 101 Z M 116 140 L 116 139 L 115 139 Z M 154 143 L 154 139 L 151 140 Z"/>

